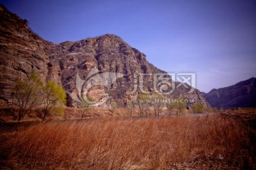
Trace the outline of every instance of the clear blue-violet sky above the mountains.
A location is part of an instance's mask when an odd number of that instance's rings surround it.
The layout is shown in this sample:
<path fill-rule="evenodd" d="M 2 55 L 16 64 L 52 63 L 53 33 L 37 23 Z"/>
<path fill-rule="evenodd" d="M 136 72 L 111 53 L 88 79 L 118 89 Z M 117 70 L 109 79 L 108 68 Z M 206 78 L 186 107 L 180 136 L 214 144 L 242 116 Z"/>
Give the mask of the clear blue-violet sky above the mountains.
<path fill-rule="evenodd" d="M 119 35 L 166 72 L 208 92 L 256 77 L 255 0 L 0 0 L 45 40 Z"/>

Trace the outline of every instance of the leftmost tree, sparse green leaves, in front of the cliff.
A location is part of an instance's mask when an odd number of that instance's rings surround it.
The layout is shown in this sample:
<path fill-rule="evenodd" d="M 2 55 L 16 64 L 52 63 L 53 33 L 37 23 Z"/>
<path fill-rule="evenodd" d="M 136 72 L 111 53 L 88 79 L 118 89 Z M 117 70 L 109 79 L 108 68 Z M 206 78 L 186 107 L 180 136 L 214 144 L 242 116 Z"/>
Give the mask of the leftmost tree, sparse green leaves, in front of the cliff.
<path fill-rule="evenodd" d="M 26 79 L 18 79 L 14 84 L 14 104 L 18 107 L 18 121 L 22 120 L 26 113 L 41 105 L 40 91 L 43 81 L 38 73 L 27 74 Z"/>

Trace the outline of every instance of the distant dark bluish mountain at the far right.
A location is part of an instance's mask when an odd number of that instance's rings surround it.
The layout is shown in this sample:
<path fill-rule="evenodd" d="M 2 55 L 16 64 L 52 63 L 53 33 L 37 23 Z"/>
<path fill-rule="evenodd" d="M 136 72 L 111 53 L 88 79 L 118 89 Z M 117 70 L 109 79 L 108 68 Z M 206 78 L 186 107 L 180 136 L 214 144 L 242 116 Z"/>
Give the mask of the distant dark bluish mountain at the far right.
<path fill-rule="evenodd" d="M 212 107 L 256 107 L 256 78 L 240 81 L 233 86 L 212 89 L 203 96 Z"/>

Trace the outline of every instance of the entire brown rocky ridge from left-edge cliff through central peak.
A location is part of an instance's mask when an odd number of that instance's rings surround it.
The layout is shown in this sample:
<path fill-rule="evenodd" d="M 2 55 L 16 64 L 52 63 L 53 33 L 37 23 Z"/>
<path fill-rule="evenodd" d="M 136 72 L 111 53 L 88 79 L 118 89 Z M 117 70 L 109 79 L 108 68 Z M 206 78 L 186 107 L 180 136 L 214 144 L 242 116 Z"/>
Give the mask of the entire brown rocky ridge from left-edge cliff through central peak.
<path fill-rule="evenodd" d="M 63 85 L 69 94 L 68 106 L 76 105 L 74 96 L 79 99 L 87 86 L 90 89 L 86 95 L 92 96 L 95 101 L 107 94 L 111 96 L 105 105 L 115 101 L 118 106 L 126 106 L 142 90 L 153 93 L 160 88 L 172 91 L 165 95 L 166 98 L 183 96 L 191 103 L 208 106 L 200 91 L 193 90 L 188 84 L 173 83 L 169 74 L 147 62 L 146 55 L 129 46 L 117 35 L 106 34 L 59 44 L 48 42 L 33 33 L 26 20 L 9 12 L 4 6 L 0 6 L 0 23 L 1 105 L 12 103 L 11 88 L 14 80 L 26 77 L 33 70 L 39 72 L 44 81 L 51 80 Z M 110 79 L 102 76 L 109 75 L 109 72 L 116 75 L 111 77 L 111 86 L 100 86 L 97 82 L 94 82 L 95 86 L 92 86 L 93 82 L 85 86 L 84 82 L 95 81 L 87 78 L 92 75 L 97 77 L 97 74 L 102 80 L 100 82 L 105 84 Z M 164 84 L 158 82 L 154 86 L 156 76 Z"/>

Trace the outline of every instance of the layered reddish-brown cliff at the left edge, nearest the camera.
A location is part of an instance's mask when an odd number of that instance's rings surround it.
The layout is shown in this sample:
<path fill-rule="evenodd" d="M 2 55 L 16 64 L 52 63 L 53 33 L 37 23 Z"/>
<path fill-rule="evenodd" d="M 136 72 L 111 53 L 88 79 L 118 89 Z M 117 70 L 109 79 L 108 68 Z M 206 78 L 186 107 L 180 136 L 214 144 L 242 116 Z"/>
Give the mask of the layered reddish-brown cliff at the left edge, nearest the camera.
<path fill-rule="evenodd" d="M 11 102 L 11 86 L 17 77 L 26 77 L 32 69 L 48 74 L 45 48 L 49 42 L 39 38 L 28 28 L 26 20 L 4 6 L 0 6 L 0 23 L 0 99 Z"/>

